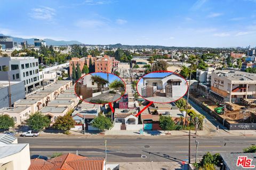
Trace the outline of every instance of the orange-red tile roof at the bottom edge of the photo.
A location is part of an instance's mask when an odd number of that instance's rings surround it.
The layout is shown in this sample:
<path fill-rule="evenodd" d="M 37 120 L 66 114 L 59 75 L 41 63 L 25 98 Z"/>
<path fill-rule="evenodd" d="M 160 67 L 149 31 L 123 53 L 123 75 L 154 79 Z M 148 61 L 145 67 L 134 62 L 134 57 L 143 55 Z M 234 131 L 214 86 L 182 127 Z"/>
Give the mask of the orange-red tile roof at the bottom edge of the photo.
<path fill-rule="evenodd" d="M 105 158 L 66 154 L 49 160 L 31 159 L 28 170 L 103 170 Z"/>

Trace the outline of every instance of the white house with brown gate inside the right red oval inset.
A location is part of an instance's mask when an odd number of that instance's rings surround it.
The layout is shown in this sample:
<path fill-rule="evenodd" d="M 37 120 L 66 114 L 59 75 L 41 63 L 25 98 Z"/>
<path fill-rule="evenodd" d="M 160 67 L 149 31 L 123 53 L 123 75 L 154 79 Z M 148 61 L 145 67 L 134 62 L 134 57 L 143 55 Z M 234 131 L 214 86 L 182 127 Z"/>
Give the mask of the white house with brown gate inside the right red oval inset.
<path fill-rule="evenodd" d="M 171 73 L 170 75 L 166 75 L 165 77 L 150 77 L 148 74 L 148 76 L 143 77 L 141 96 L 167 97 L 175 100 L 185 95 L 187 89 L 187 81 L 179 77 L 177 74 Z"/>

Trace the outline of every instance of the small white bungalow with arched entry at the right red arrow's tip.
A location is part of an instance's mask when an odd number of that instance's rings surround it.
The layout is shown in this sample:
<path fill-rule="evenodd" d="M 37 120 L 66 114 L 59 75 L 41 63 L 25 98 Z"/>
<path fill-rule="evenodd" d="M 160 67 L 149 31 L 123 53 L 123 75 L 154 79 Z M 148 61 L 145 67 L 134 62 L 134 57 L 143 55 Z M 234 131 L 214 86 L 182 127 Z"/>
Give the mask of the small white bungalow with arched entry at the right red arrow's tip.
<path fill-rule="evenodd" d="M 140 130 L 137 109 L 115 109 L 113 130 Z"/>

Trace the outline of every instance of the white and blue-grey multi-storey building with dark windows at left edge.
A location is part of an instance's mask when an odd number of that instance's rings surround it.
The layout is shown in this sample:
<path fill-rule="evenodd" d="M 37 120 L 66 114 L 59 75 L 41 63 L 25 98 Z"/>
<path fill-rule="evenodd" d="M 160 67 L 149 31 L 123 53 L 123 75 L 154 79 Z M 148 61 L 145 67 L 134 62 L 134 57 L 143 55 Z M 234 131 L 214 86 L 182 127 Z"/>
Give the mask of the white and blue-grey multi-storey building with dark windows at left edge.
<path fill-rule="evenodd" d="M 1 57 L 0 80 L 23 81 L 25 90 L 40 85 L 38 59 L 35 57 Z"/>

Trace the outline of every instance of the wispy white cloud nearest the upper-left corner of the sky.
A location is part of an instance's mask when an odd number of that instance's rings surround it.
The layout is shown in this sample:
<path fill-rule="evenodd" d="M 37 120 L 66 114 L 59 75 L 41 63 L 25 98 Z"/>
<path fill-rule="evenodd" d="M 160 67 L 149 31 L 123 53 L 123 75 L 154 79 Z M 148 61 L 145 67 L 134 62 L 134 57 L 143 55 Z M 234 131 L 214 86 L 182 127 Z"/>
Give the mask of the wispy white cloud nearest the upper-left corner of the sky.
<path fill-rule="evenodd" d="M 29 15 L 34 19 L 51 21 L 55 16 L 55 10 L 47 6 L 41 8 L 33 8 L 31 9 L 31 13 L 29 13 Z"/>

